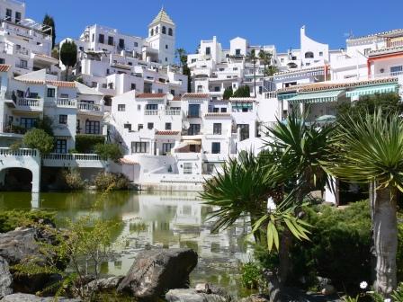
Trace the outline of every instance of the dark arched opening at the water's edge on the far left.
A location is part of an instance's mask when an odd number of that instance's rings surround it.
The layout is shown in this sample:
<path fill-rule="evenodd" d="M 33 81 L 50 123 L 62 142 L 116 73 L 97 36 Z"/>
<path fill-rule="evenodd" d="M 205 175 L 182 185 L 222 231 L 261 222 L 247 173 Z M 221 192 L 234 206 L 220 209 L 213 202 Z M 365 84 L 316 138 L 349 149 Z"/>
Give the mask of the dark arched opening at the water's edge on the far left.
<path fill-rule="evenodd" d="M 0 191 L 31 191 L 32 173 L 26 168 L 6 168 L 0 171 Z"/>

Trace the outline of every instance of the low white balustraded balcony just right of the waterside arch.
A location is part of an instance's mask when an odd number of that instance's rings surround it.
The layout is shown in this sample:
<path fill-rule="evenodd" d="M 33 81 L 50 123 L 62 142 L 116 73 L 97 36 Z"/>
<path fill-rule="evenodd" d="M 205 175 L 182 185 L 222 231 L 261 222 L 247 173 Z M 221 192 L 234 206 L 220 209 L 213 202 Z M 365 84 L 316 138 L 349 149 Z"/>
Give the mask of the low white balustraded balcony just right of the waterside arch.
<path fill-rule="evenodd" d="M 51 167 L 105 168 L 106 161 L 96 154 L 58 154 L 42 156 L 43 165 Z"/>

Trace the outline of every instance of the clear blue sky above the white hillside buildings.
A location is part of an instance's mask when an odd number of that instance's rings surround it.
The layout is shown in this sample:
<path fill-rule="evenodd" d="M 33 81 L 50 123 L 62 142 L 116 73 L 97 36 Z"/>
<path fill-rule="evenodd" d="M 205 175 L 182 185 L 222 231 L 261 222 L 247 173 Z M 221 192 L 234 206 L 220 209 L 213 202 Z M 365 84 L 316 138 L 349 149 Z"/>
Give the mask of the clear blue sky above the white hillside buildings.
<path fill-rule="evenodd" d="M 216 35 L 223 45 L 237 36 L 251 45 L 275 44 L 278 51 L 299 48 L 300 27 L 309 37 L 345 47 L 355 36 L 402 28 L 401 0 L 26 0 L 27 17 L 55 18 L 57 40 L 76 38 L 88 24 L 102 24 L 145 37 L 148 23 L 164 4 L 176 23 L 176 47 L 194 52 L 200 40 Z"/>

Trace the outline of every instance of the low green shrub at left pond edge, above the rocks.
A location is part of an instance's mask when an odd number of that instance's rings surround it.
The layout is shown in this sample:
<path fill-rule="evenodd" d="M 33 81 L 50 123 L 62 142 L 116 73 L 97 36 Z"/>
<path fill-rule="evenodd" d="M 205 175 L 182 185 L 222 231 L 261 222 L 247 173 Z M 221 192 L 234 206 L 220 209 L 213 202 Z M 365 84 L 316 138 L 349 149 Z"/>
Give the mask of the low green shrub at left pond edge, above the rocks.
<path fill-rule="evenodd" d="M 16 227 L 29 226 L 40 219 L 54 223 L 55 213 L 42 210 L 2 210 L 0 211 L 0 233 L 13 231 Z"/>

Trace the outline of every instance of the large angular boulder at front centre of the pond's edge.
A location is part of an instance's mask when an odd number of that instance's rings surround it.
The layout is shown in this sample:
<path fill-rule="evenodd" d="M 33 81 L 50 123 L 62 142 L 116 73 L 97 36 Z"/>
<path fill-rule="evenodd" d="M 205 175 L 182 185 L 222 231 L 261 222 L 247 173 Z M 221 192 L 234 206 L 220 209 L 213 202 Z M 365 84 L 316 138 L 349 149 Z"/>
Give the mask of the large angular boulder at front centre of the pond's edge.
<path fill-rule="evenodd" d="M 192 249 L 153 249 L 138 254 L 118 291 L 142 300 L 157 300 L 169 289 L 186 288 L 197 264 Z"/>

